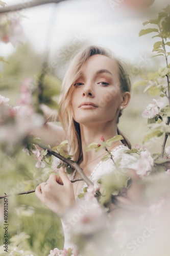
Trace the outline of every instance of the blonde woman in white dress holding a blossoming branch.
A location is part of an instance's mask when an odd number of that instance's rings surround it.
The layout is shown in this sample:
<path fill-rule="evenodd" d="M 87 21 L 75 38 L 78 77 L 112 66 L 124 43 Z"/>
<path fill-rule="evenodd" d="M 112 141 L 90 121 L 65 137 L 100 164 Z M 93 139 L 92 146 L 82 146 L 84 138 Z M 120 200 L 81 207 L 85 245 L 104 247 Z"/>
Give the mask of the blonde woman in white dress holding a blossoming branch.
<path fill-rule="evenodd" d="M 107 140 L 122 134 L 117 128 L 118 118 L 129 100 L 130 79 L 122 63 L 101 47 L 87 47 L 72 59 L 63 79 L 59 111 L 62 127 L 47 124 L 45 142 L 55 146 L 67 139 L 68 152 L 74 156 L 73 160 L 79 163 L 87 177 L 97 181 L 111 171 L 110 159 L 101 162 L 107 153 L 103 148 L 99 152 L 85 152 L 85 148 L 92 142 L 100 142 L 101 136 Z M 37 132 L 37 135 L 40 134 Z M 112 143 L 108 149 L 112 150 L 115 160 L 122 156 L 122 166 L 130 167 L 133 157 L 124 153 L 127 147 L 131 145 L 124 136 L 124 140 Z M 133 180 L 137 178 L 133 170 L 129 175 Z M 86 185 L 84 181 L 71 183 L 73 178 L 80 178 L 80 175 L 74 171 L 68 177 L 61 167 L 59 176 L 50 175 L 47 183 L 36 188 L 36 196 L 61 218 L 76 204 L 77 195 Z M 62 186 L 58 184 L 61 181 Z M 136 187 L 132 185 L 123 200 L 135 202 L 135 191 Z"/>

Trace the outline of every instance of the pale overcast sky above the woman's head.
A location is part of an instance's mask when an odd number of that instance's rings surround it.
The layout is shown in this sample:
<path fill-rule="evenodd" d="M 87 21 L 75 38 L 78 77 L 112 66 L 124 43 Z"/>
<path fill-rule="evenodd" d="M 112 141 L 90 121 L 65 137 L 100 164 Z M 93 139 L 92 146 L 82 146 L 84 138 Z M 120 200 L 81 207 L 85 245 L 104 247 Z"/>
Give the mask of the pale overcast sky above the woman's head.
<path fill-rule="evenodd" d="M 33 1 L 33 0 L 32 0 Z M 113 7 L 113 1 L 120 3 Z M 7 0 L 8 6 L 24 3 L 25 0 Z M 134 61 L 150 54 L 156 39 L 151 34 L 139 37 L 142 23 L 157 17 L 157 12 L 166 7 L 167 0 L 155 0 L 154 5 L 144 11 L 134 11 L 119 0 L 68 0 L 59 4 L 47 4 L 18 11 L 25 40 L 33 48 L 50 54 L 74 51 L 75 45 L 95 44 L 109 48 L 114 55 Z M 1 43 L 1 55 L 7 56 L 15 47 Z"/>

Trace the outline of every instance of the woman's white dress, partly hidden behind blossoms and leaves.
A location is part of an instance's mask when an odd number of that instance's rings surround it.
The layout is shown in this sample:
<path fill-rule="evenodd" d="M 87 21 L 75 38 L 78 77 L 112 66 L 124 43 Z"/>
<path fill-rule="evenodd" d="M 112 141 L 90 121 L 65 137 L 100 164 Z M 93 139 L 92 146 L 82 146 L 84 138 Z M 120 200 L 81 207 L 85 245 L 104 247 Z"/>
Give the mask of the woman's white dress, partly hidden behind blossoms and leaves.
<path fill-rule="evenodd" d="M 137 160 L 137 157 L 134 156 L 134 154 L 127 154 L 124 153 L 125 150 L 129 150 L 129 148 L 125 145 L 119 145 L 117 146 L 112 152 L 113 160 L 116 162 L 119 158 L 122 158 L 119 162 L 120 168 L 131 168 L 131 165 Z M 106 161 L 100 161 L 95 168 L 93 169 L 93 172 L 91 175 L 88 177 L 92 182 L 98 181 L 103 175 L 105 174 L 110 174 L 113 172 L 115 169 L 113 161 L 111 159 L 108 159 Z M 68 175 L 69 179 L 72 180 L 74 179 L 74 176 L 76 174 L 76 170 L 70 175 Z M 83 193 L 83 188 L 86 187 L 87 184 L 85 183 L 81 190 L 79 191 L 80 193 Z M 76 195 L 75 197 L 76 202 L 79 202 L 78 196 Z M 70 236 L 69 232 L 67 232 L 67 227 L 65 226 L 64 222 L 61 219 L 61 223 L 63 226 L 63 232 L 64 232 L 64 247 L 68 249 L 71 247 L 71 243 L 69 242 Z"/>

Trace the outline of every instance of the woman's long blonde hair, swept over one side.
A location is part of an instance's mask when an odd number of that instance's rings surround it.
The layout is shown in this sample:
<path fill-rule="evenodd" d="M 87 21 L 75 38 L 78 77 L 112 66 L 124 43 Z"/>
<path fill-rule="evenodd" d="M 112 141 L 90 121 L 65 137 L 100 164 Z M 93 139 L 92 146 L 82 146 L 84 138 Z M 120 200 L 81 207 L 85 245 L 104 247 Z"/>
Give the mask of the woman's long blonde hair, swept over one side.
<path fill-rule="evenodd" d="M 83 64 L 90 56 L 95 54 L 104 55 L 115 60 L 119 70 L 120 90 L 122 92 L 130 92 L 131 89 L 130 78 L 123 63 L 120 60 L 115 59 L 109 50 L 106 50 L 103 47 L 89 46 L 79 51 L 72 58 L 62 82 L 62 91 L 59 100 L 60 110 L 58 112 L 58 116 L 62 127 L 67 134 L 69 142 L 69 154 L 74 156 L 73 160 L 77 163 L 80 163 L 83 160 L 83 153 L 81 144 L 80 124 L 74 120 L 71 106 L 71 94 L 74 90 L 74 87 L 72 85 L 75 84 L 75 82 L 79 79 Z M 120 111 L 119 116 L 121 114 L 122 111 Z M 117 133 L 124 137 L 122 142 L 129 148 L 131 148 L 131 143 L 125 137 L 125 135 L 119 131 L 118 128 Z"/>

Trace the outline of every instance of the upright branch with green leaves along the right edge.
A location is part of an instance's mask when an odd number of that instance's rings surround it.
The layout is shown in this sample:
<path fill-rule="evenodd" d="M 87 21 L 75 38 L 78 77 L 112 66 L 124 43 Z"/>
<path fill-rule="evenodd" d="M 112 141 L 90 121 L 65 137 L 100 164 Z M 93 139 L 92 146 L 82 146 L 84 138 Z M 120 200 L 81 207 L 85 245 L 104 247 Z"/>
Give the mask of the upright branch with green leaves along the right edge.
<path fill-rule="evenodd" d="M 170 56 L 170 52 L 166 51 L 166 47 L 170 47 L 170 5 L 168 5 L 166 8 L 163 9 L 163 12 L 158 13 L 157 19 L 150 19 L 148 22 L 144 22 L 143 26 L 145 25 L 154 25 L 156 28 L 148 28 L 148 29 L 142 29 L 139 33 L 139 36 L 149 34 L 149 33 L 156 33 L 152 38 L 159 37 L 160 40 L 155 42 L 153 46 L 153 52 L 156 52 L 157 56 L 163 56 L 165 57 L 166 67 L 160 67 L 157 72 L 155 73 L 149 73 L 147 76 L 141 75 L 144 80 L 138 81 L 134 84 L 134 87 L 138 87 L 140 85 L 145 86 L 147 83 L 149 85 L 147 88 L 144 89 L 144 92 L 148 92 L 152 96 L 156 96 L 159 93 L 160 97 L 166 97 L 168 99 L 168 105 L 165 108 L 162 108 L 159 112 L 159 114 L 155 115 L 154 117 L 148 118 L 149 124 L 154 124 L 158 122 L 160 124 L 164 121 L 164 118 L 167 118 L 166 125 L 169 125 L 170 122 L 170 93 L 169 93 L 169 77 L 170 77 L 170 65 L 168 64 L 168 56 Z M 167 83 L 164 84 L 164 81 L 162 78 L 166 76 Z M 150 109 L 148 108 L 148 111 Z M 165 144 L 169 135 L 169 129 L 165 129 L 162 125 L 155 126 L 155 129 L 152 129 L 150 133 L 148 133 L 145 138 L 144 142 L 157 136 L 161 136 L 164 134 L 164 140 L 162 144 L 162 150 L 160 157 L 163 158 L 164 151 L 165 151 Z"/>

